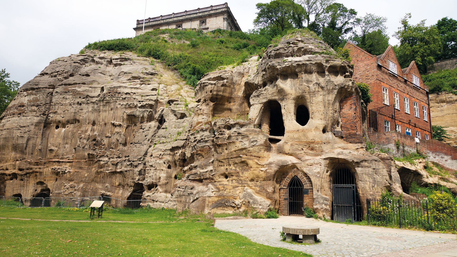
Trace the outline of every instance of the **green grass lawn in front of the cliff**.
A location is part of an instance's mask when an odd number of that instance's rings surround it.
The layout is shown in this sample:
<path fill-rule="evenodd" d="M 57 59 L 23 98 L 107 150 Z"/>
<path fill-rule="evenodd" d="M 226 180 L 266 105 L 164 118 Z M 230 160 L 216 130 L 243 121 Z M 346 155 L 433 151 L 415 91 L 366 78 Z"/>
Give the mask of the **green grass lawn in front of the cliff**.
<path fill-rule="evenodd" d="M 61 214 L 61 216 L 58 216 Z M 105 216 L 106 214 L 106 216 Z M 61 209 L 0 208 L 0 217 L 88 220 L 89 213 Z M 102 220 L 157 223 L 0 220 L 0 257 L 144 256 L 144 257 L 311 257 L 303 252 L 254 243 L 218 230 L 199 215 L 156 209 L 103 213 Z M 181 217 L 180 217 L 181 216 Z M 176 222 L 177 221 L 177 222 Z"/>

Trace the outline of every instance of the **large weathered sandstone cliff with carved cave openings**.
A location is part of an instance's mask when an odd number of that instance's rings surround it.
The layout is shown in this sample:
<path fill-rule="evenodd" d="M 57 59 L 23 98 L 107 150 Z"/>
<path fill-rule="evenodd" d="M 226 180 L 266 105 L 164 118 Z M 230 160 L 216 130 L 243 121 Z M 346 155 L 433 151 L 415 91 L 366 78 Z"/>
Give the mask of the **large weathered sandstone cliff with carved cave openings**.
<path fill-rule="evenodd" d="M 53 61 L 1 117 L 0 194 L 125 199 L 144 190 L 153 207 L 291 214 L 294 181 L 303 206 L 327 217 L 342 177 L 361 203 L 384 188 L 400 194 L 391 158 L 349 143 L 363 141 L 360 93 L 351 64 L 333 53 L 313 38 L 284 39 L 260 62 L 208 73 L 195 98 L 131 54 Z"/>

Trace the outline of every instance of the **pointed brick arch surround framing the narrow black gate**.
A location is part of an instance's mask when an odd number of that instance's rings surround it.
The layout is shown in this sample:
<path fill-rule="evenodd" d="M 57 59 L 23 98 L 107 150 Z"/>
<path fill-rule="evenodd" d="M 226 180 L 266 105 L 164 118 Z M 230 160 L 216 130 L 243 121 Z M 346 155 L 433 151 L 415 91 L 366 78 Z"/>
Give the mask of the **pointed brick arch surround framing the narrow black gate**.
<path fill-rule="evenodd" d="M 281 186 L 279 187 L 279 212 L 282 215 L 289 215 L 287 186 L 292 180 L 292 177 L 297 176 L 298 179 L 303 183 L 303 207 L 314 208 L 313 198 L 313 183 L 306 173 L 293 169 L 289 174 L 284 174 L 281 179 Z M 308 190 L 308 193 L 306 192 Z"/>

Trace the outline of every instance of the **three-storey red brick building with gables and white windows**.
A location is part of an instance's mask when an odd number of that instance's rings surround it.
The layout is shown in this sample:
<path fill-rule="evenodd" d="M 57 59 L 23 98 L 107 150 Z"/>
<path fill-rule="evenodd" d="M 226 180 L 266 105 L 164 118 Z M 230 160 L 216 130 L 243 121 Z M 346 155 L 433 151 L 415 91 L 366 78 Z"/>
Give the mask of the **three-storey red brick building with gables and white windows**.
<path fill-rule="evenodd" d="M 368 104 L 368 127 L 431 139 L 428 87 L 415 62 L 402 70 L 392 46 L 378 56 L 350 42 L 345 48 L 354 64 L 353 79 L 368 84 L 373 94 L 373 102 Z"/>

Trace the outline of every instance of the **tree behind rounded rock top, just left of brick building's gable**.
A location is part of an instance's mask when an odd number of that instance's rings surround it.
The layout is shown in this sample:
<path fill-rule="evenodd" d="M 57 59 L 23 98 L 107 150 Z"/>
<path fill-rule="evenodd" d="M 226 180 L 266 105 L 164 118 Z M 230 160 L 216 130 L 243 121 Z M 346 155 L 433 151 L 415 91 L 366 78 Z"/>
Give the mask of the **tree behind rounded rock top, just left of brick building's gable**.
<path fill-rule="evenodd" d="M 333 3 L 325 9 L 325 23 L 322 26 L 322 39 L 330 47 L 336 48 L 345 42 L 344 36 L 351 32 L 352 21 L 356 18 L 354 9 L 347 9 L 343 4 Z"/>

